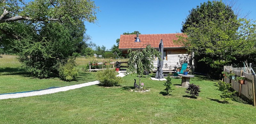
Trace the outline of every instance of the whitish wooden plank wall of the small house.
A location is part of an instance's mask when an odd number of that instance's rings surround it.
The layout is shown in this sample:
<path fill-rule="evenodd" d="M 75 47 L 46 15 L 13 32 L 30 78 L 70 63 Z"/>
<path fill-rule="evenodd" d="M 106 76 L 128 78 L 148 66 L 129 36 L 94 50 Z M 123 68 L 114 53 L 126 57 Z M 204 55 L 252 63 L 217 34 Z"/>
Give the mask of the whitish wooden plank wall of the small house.
<path fill-rule="evenodd" d="M 189 63 L 189 54 L 187 53 L 186 49 L 173 49 L 173 50 L 166 50 L 167 52 L 167 60 L 164 60 L 164 67 L 165 63 L 167 63 L 168 68 L 174 69 L 174 67 L 181 67 L 182 63 Z M 154 67 L 157 67 L 157 59 L 154 62 Z M 189 67 L 189 64 L 188 64 Z"/>

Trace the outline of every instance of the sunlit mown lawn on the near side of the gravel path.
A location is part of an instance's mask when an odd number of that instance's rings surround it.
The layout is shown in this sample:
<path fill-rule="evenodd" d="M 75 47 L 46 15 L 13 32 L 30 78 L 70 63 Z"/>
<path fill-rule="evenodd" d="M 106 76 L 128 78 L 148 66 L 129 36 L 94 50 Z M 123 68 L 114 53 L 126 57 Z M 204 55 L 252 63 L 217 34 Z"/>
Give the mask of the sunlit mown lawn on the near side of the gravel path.
<path fill-rule="evenodd" d="M 152 76 L 152 75 L 151 75 Z M 25 77 L 23 77 L 25 78 Z M 1 78 L 2 79 L 2 78 Z M 119 87 L 87 86 L 65 92 L 0 100 L 1 123 L 254 123 L 256 107 L 241 102 L 219 103 L 216 81 L 196 76 L 197 99 L 178 87 L 164 96 L 164 82 L 142 78 L 149 92 L 133 92 L 136 75 Z M 32 80 L 32 79 L 28 79 Z M 2 88 L 1 88 L 2 89 Z"/>

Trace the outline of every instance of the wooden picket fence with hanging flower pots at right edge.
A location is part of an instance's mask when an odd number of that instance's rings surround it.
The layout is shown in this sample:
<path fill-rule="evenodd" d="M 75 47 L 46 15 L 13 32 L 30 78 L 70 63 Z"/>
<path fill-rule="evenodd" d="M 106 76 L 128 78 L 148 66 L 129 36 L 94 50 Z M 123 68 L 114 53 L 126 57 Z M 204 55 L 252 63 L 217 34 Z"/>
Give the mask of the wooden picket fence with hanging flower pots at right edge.
<path fill-rule="evenodd" d="M 256 87 L 256 76 L 252 75 L 251 73 L 247 73 L 247 68 L 233 68 L 232 66 L 224 66 L 224 71 L 228 73 L 235 73 L 236 76 L 245 76 L 245 83 L 240 84 L 236 80 L 231 80 L 229 77 L 224 77 L 224 81 L 226 83 L 231 83 L 232 89 L 237 91 L 237 95 L 244 99 L 246 102 L 253 104 L 256 106 L 255 103 L 255 87 Z"/>

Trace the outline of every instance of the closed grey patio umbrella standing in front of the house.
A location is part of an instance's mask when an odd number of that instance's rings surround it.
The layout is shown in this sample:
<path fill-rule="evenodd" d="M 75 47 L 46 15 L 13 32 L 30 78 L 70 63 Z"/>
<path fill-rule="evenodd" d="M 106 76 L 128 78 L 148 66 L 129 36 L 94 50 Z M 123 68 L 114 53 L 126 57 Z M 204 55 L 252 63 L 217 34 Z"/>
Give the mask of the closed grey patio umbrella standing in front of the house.
<path fill-rule="evenodd" d="M 163 75 L 163 66 L 164 66 L 164 44 L 163 44 L 163 40 L 160 40 L 159 43 L 159 52 L 161 53 L 160 58 L 161 60 L 158 58 L 157 60 L 157 70 L 156 70 L 156 77 L 157 79 L 162 79 L 164 78 Z"/>

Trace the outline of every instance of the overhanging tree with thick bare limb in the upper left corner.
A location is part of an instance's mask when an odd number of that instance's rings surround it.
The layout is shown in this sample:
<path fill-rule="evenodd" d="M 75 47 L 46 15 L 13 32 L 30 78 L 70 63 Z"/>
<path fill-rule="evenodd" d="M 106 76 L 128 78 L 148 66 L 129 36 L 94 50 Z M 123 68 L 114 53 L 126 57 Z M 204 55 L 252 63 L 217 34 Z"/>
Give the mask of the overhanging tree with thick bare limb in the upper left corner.
<path fill-rule="evenodd" d="M 20 39 L 19 23 L 33 24 L 40 30 L 44 22 L 77 24 L 81 21 L 94 23 L 98 8 L 90 0 L 34 0 L 28 3 L 23 0 L 0 1 L 0 45 L 2 37 Z M 16 22 L 16 23 L 15 23 Z M 18 27 L 16 30 L 14 26 Z M 10 31 L 11 30 L 11 31 Z M 12 42 L 12 40 L 8 40 Z"/>

